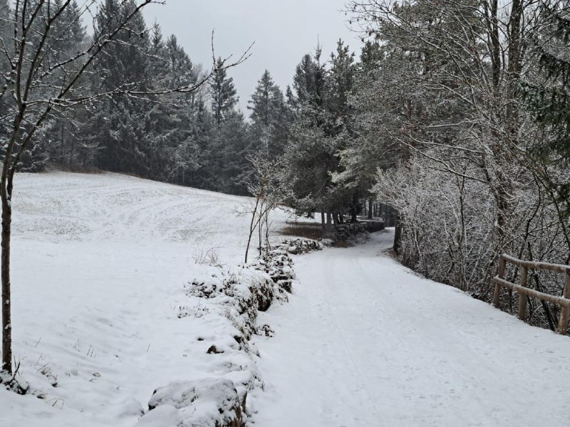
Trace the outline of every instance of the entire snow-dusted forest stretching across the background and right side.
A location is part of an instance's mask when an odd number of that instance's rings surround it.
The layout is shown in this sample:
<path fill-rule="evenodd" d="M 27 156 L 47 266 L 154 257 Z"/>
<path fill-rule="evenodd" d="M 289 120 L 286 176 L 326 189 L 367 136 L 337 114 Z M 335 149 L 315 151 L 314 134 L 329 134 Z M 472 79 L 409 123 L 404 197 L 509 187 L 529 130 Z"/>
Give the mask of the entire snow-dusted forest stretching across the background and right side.
<path fill-rule="evenodd" d="M 195 63 L 176 36 L 145 22 L 140 2 L 89 3 L 14 10 L 0 0 L 5 170 L 253 192 L 323 227 L 381 204 L 398 216 L 394 250 L 405 265 L 487 301 L 502 253 L 570 262 L 567 1 L 348 1 L 360 50 L 316 43 L 286 88 L 259 70 L 247 112 L 231 73 L 248 53 Z M 38 52 L 23 62 L 27 105 L 12 90 L 11 58 L 23 51 L 6 43 L 14 16 L 31 23 L 26 43 Z M 101 54 L 75 56 L 93 46 Z M 54 97 L 79 69 L 65 99 Z M 531 282 L 563 288 L 554 276 Z M 504 298 L 512 310 L 512 293 Z M 554 306 L 529 310 L 554 328 Z"/>

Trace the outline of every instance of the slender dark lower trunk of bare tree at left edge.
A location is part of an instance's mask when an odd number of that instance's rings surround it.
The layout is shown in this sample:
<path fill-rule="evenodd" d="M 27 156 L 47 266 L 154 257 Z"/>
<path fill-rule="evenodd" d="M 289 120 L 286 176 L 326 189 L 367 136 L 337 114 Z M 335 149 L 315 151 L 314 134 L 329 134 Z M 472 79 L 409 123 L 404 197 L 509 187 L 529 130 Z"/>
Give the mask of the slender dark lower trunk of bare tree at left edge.
<path fill-rule="evenodd" d="M 2 183 L 2 367 L 0 371 L 12 373 L 12 321 L 11 321 L 11 292 L 10 292 L 10 233 L 12 207 L 6 192 L 6 183 Z"/>

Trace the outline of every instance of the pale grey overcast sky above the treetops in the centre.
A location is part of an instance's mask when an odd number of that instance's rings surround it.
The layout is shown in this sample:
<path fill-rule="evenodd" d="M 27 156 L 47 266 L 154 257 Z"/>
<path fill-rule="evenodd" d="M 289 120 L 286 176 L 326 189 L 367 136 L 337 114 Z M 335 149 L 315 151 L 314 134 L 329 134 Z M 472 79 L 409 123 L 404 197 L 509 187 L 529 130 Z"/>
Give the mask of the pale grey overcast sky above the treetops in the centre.
<path fill-rule="evenodd" d="M 205 68 L 211 68 L 212 63 L 212 29 L 217 56 L 241 56 L 255 42 L 252 57 L 229 70 L 239 105 L 249 115 L 247 100 L 265 69 L 285 90 L 296 65 L 305 53 L 314 50 L 318 40 L 327 59 L 338 38 L 358 51 L 358 38 L 348 30 L 341 12 L 345 1 L 167 0 L 164 6 L 147 6 L 144 14 L 149 26 L 156 19 L 165 36 L 175 34 L 192 61 Z"/>

